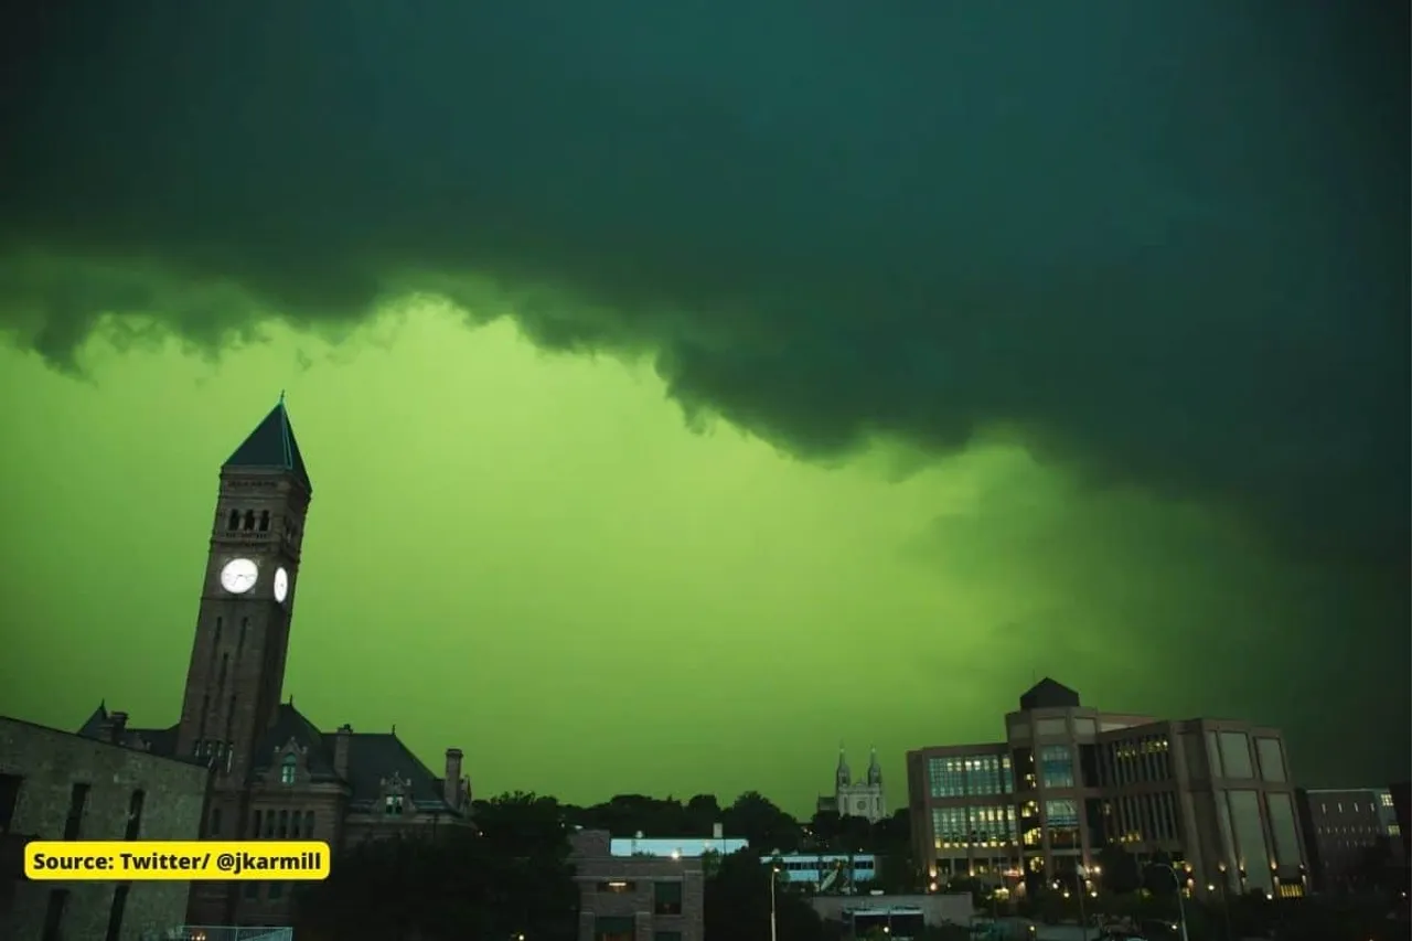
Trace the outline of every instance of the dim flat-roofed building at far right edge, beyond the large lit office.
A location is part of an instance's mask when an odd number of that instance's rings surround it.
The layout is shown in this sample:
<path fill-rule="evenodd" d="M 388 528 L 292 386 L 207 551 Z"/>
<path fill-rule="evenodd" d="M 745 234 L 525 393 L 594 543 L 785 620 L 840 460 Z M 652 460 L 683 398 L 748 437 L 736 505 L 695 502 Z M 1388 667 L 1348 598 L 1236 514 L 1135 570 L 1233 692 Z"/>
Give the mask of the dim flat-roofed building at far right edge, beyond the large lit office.
<path fill-rule="evenodd" d="M 1315 890 L 1375 889 L 1382 869 L 1404 859 L 1402 827 L 1385 787 L 1296 791 Z"/>

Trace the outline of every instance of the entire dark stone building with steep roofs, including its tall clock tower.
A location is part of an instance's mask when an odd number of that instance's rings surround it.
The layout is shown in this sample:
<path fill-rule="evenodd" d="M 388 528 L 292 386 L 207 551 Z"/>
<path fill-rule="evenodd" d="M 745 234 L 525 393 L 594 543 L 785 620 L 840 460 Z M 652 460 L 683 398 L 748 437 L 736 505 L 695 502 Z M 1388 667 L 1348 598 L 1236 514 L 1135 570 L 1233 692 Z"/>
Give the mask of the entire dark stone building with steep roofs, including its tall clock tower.
<path fill-rule="evenodd" d="M 322 839 L 470 822 L 462 752 L 432 771 L 391 732 L 332 732 L 282 701 L 289 625 L 313 483 L 284 398 L 220 468 L 181 716 L 133 728 L 100 704 L 80 735 L 209 766 L 202 834 Z M 287 924 L 289 886 L 196 883 L 193 924 Z"/>

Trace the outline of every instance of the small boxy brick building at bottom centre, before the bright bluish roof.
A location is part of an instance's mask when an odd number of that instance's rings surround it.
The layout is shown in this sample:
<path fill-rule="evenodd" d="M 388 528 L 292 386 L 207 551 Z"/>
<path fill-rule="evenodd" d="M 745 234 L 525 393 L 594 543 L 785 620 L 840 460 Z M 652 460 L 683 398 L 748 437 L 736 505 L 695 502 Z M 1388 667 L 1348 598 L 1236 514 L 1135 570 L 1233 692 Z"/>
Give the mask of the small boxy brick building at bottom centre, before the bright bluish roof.
<path fill-rule="evenodd" d="M 602 829 L 579 831 L 569 842 L 579 941 L 703 941 L 702 853 L 719 851 L 723 841 L 657 841 L 668 846 L 666 855 L 650 852 L 647 841 L 616 841 Z"/>

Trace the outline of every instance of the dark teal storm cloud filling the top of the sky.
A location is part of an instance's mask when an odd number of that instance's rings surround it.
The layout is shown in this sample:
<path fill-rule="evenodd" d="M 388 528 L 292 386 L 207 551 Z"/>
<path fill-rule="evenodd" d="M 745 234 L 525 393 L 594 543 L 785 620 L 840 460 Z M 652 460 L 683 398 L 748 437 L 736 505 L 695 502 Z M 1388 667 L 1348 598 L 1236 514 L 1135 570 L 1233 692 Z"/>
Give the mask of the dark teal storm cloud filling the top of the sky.
<path fill-rule="evenodd" d="M 6 315 L 62 360 L 100 311 L 217 338 L 476 276 L 799 452 L 1003 425 L 1405 560 L 1392 6 L 48 3 Z"/>

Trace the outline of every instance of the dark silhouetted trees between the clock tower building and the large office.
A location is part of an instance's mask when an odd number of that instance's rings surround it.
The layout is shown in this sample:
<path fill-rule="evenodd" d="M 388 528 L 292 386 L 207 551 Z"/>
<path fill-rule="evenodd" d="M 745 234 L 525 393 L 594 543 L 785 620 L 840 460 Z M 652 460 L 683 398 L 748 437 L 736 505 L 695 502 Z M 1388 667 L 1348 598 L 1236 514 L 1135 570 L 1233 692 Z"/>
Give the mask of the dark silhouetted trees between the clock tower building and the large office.
<path fill-rule="evenodd" d="M 748 849 L 710 860 L 706 882 L 709 938 L 765 941 L 770 883 L 777 853 L 875 853 L 895 859 L 884 880 L 916 882 L 909 862 L 905 811 L 868 824 L 837 814 L 796 821 L 767 797 L 748 791 L 727 805 L 710 794 L 689 800 L 620 794 L 578 807 L 514 793 L 473 804 L 476 829 L 442 829 L 435 839 L 390 836 L 345 848 L 328 880 L 297 897 L 297 935 L 378 941 L 466 938 L 573 941 L 578 889 L 569 834 L 606 829 L 613 836 L 710 838 L 716 824 Z M 905 883 L 905 884 L 904 884 Z M 798 893 L 778 886 L 779 937 L 827 941 Z"/>

